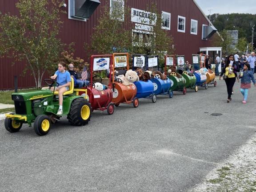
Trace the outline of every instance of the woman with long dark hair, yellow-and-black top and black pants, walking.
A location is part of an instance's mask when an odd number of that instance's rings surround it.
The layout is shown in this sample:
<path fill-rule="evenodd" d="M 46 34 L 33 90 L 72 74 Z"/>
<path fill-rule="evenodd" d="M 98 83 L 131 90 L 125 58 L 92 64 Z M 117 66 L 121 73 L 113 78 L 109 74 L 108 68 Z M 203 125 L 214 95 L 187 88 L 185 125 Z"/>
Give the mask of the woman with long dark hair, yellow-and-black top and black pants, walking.
<path fill-rule="evenodd" d="M 228 99 L 227 99 L 228 103 L 232 100 L 231 99 L 232 89 L 236 82 L 236 73 L 234 73 L 234 64 L 235 64 L 234 56 L 229 55 L 228 60 L 226 61 L 225 66 L 221 71 L 220 77 L 219 77 L 221 79 L 221 77 L 224 75 L 223 79 L 225 80 L 227 91 L 228 91 Z"/>

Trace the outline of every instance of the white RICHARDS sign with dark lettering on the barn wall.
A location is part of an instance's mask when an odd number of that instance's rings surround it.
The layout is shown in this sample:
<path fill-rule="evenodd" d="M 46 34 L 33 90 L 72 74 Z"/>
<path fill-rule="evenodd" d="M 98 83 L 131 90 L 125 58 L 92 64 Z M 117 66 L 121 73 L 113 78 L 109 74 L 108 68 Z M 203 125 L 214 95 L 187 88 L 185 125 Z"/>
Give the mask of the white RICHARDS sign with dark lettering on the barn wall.
<path fill-rule="evenodd" d="M 154 17 L 155 17 L 155 20 L 152 20 L 151 21 L 152 23 L 150 23 L 150 18 L 154 18 Z M 151 12 L 146 12 L 140 9 L 132 8 L 131 21 L 135 23 L 155 25 L 156 14 Z"/>

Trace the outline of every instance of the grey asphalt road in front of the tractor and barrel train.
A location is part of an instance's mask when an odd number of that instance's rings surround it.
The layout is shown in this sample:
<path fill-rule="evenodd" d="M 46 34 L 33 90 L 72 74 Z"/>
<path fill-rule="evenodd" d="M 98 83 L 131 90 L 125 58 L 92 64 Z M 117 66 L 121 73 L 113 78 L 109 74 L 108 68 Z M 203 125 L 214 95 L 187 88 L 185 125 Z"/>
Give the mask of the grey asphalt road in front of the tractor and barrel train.
<path fill-rule="evenodd" d="M 236 83 L 226 103 L 217 83 L 138 108 L 120 104 L 112 116 L 93 112 L 84 127 L 63 118 L 47 136 L 27 125 L 9 133 L 1 120 L 0 191 L 184 192 L 256 132 L 256 88 L 242 104 Z"/>

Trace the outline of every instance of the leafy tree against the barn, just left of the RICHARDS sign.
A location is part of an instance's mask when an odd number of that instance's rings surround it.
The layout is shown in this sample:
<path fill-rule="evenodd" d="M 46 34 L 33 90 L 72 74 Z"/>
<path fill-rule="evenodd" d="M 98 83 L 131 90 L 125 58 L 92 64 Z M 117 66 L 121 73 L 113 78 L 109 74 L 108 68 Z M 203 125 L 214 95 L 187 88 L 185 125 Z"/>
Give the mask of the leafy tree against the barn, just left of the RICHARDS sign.
<path fill-rule="evenodd" d="M 124 52 L 131 47 L 131 32 L 125 29 L 129 8 L 120 2 L 114 2 L 111 10 L 106 6 L 101 12 L 99 23 L 93 28 L 91 42 L 84 46 L 88 55 Z"/>

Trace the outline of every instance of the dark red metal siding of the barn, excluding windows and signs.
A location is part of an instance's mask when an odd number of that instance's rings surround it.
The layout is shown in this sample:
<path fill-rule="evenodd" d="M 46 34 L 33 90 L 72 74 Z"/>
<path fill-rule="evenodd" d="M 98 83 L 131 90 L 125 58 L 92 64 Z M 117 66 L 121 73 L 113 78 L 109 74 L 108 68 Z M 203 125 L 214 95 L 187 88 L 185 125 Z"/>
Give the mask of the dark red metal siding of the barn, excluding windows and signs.
<path fill-rule="evenodd" d="M 68 4 L 68 0 L 65 1 Z M 0 0 L 0 12 L 11 12 L 13 15 L 17 15 L 16 2 L 18 0 Z M 64 21 L 60 29 L 60 38 L 66 44 L 75 42 L 75 56 L 79 56 L 84 60 L 88 60 L 88 56 L 84 50 L 84 43 L 90 42 L 93 28 L 98 24 L 104 6 L 109 6 L 109 0 L 100 0 L 100 2 L 100 6 L 86 22 L 68 19 L 68 6 L 62 8 L 67 14 L 60 16 L 61 20 Z M 157 9 L 160 12 L 171 13 L 171 30 L 168 30 L 168 34 L 174 38 L 175 54 L 185 55 L 185 59 L 191 62 L 192 54 L 197 53 L 200 47 L 210 47 L 209 40 L 201 39 L 202 25 L 208 24 L 208 21 L 192 0 L 128 0 L 128 6 L 130 8 L 146 10 L 152 2 L 157 4 Z M 186 17 L 185 33 L 177 32 L 178 15 Z M 198 20 L 197 35 L 190 34 L 191 19 Z M 132 32 L 135 23 L 131 22 L 131 18 L 128 21 L 128 23 L 124 24 L 125 28 L 130 29 Z M 35 86 L 31 72 L 27 72 L 24 77 L 20 76 L 25 64 L 26 62 L 23 61 L 12 65 L 11 59 L 6 57 L 0 58 L 0 90 L 14 88 L 13 78 L 15 75 L 18 76 L 19 88 Z"/>

